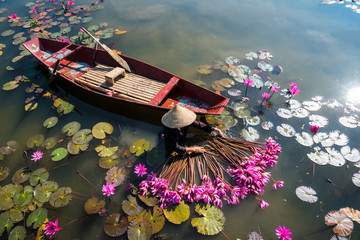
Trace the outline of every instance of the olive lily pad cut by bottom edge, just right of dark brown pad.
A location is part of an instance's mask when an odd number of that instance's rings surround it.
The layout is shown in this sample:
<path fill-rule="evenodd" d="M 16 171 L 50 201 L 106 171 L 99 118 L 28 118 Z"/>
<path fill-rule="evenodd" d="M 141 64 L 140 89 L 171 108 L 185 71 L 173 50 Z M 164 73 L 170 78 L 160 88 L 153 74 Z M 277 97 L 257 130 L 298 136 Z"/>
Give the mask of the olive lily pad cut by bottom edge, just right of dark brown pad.
<path fill-rule="evenodd" d="M 132 220 L 128 228 L 129 240 L 146 240 L 152 235 L 152 225 L 147 218 L 143 218 L 139 223 L 136 219 Z"/>

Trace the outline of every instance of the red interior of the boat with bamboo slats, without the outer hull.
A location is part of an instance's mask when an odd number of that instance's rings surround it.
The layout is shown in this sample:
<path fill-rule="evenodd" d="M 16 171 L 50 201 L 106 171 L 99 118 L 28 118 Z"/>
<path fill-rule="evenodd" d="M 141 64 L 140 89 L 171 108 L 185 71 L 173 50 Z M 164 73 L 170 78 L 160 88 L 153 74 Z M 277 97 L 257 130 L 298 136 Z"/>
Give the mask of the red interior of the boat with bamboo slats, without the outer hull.
<path fill-rule="evenodd" d="M 122 56 L 132 68 L 126 72 L 104 50 L 42 38 L 24 46 L 51 71 L 55 68 L 68 80 L 111 97 L 165 108 L 180 103 L 198 113 L 214 114 L 217 110 L 209 107 L 224 104 L 221 95 L 209 98 L 208 90 L 133 58 Z"/>

